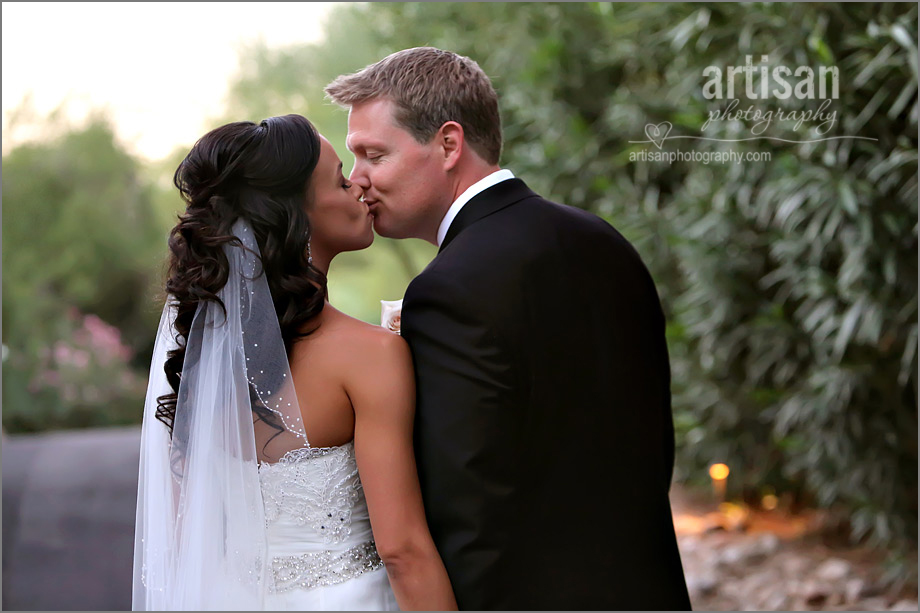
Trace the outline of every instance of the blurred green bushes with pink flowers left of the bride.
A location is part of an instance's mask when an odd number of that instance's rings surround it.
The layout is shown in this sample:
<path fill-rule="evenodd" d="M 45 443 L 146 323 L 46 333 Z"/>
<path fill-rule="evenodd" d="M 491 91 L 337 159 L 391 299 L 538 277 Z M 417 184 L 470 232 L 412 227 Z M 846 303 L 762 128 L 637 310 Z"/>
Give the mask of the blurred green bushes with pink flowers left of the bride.
<path fill-rule="evenodd" d="M 162 228 L 138 163 L 103 118 L 48 123 L 56 137 L 3 157 L 3 423 L 136 422 L 143 390 L 131 357 L 149 366 Z"/>

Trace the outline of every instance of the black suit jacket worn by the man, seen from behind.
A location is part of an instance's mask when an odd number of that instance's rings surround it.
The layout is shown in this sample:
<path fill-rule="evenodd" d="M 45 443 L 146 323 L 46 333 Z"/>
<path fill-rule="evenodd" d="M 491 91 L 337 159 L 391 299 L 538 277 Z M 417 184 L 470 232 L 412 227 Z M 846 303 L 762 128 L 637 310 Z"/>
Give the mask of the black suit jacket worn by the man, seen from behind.
<path fill-rule="evenodd" d="M 416 454 L 463 609 L 688 609 L 664 317 L 633 247 L 519 179 L 409 285 Z"/>

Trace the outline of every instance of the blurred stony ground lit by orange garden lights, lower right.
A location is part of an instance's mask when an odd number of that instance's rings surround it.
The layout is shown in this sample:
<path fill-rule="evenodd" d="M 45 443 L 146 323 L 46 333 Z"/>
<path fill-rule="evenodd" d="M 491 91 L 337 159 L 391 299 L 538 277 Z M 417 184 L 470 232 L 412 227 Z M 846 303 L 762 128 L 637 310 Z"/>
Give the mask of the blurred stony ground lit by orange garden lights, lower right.
<path fill-rule="evenodd" d="M 916 585 L 883 582 L 879 552 L 824 544 L 817 514 L 720 508 L 680 488 L 671 500 L 696 610 L 917 610 Z"/>

